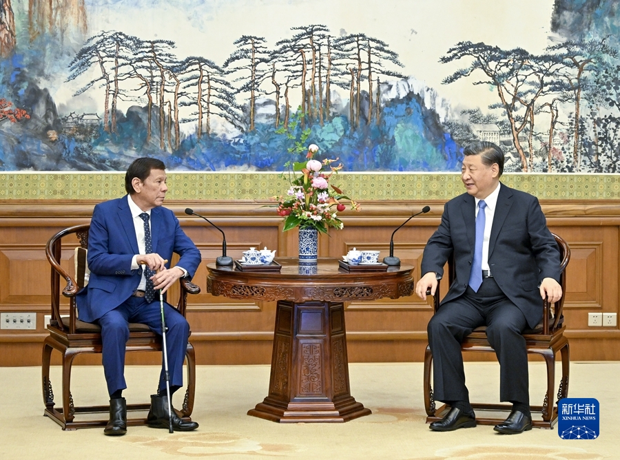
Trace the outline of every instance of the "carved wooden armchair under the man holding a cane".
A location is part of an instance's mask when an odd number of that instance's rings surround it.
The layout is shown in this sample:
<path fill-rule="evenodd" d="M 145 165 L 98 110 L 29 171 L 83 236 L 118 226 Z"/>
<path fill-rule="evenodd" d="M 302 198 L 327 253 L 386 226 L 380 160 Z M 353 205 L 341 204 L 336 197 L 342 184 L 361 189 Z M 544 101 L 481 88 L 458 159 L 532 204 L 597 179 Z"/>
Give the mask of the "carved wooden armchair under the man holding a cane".
<path fill-rule="evenodd" d="M 52 236 L 45 247 L 45 255 L 52 266 L 52 317 L 48 325 L 50 335 L 43 342 L 43 363 L 41 366 L 43 377 L 43 403 L 45 412 L 43 415 L 51 417 L 63 430 L 75 430 L 76 428 L 102 427 L 107 424 L 109 406 L 74 406 L 71 394 L 71 367 L 74 358 L 81 353 L 101 353 L 101 328 L 96 324 L 80 321 L 76 310 L 76 294 L 85 286 L 85 254 L 88 246 L 88 231 L 90 224 L 76 225 L 59 231 Z M 72 238 L 76 237 L 78 241 Z M 76 276 L 72 277 L 68 270 L 61 266 L 62 252 L 76 247 L 76 258 L 83 258 L 81 264 L 76 264 Z M 62 293 L 69 297 L 68 315 L 61 316 L 60 293 L 61 279 L 65 284 Z M 200 288 L 188 280 L 180 280 L 180 296 L 176 308 L 185 316 L 187 306 L 187 294 L 197 294 Z M 145 324 L 130 324 L 130 338 L 127 341 L 127 352 L 133 351 L 158 351 L 161 353 L 161 337 L 152 333 Z M 57 350 L 62 355 L 62 409 L 54 407 L 54 393 L 50 381 L 50 358 L 52 350 Z M 179 416 L 189 421 L 194 409 L 194 395 L 196 391 L 196 359 L 194 347 L 187 344 L 187 390 L 183 401 L 183 408 L 178 410 Z M 127 410 L 148 410 L 147 404 L 127 404 Z M 76 420 L 76 414 L 90 412 L 105 412 L 103 419 Z M 145 425 L 146 416 L 143 418 L 127 418 L 127 426 Z"/>

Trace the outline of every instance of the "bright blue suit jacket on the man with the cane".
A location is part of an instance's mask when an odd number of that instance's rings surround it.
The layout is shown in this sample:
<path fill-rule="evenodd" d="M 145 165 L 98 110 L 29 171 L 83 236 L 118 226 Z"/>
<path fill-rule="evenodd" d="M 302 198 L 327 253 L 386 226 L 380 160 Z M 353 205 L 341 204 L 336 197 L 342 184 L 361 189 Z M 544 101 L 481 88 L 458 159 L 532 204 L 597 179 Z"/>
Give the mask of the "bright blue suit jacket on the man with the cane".
<path fill-rule="evenodd" d="M 174 213 L 164 207 L 151 209 L 153 252 L 172 260 L 178 253 L 182 266 L 193 277 L 200 251 L 180 228 Z M 76 298 L 79 318 L 94 322 L 127 300 L 140 284 L 142 268 L 132 270 L 138 240 L 127 196 L 94 207 L 88 234 L 87 262 L 90 280 Z M 170 268 L 170 262 L 166 264 Z"/>

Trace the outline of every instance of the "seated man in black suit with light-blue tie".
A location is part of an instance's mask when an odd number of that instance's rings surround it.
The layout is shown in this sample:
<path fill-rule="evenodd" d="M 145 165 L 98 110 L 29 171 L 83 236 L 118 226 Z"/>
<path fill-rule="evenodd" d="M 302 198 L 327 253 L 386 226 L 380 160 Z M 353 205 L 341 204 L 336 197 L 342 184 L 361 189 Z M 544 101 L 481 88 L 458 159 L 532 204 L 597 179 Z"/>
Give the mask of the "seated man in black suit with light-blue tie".
<path fill-rule="evenodd" d="M 466 147 L 461 176 L 466 193 L 446 203 L 424 249 L 424 275 L 415 286 L 424 300 L 429 290 L 435 295 L 450 255 L 455 262 L 455 280 L 428 323 L 435 399 L 451 406 L 431 430 L 476 426 L 460 344 L 478 326 L 487 326 L 499 360 L 500 399 L 513 404 L 495 431 L 512 435 L 532 428 L 521 333 L 541 320 L 541 297 L 556 302 L 562 295 L 559 251 L 537 198 L 500 184 L 503 171 L 504 152 L 497 145 Z"/>

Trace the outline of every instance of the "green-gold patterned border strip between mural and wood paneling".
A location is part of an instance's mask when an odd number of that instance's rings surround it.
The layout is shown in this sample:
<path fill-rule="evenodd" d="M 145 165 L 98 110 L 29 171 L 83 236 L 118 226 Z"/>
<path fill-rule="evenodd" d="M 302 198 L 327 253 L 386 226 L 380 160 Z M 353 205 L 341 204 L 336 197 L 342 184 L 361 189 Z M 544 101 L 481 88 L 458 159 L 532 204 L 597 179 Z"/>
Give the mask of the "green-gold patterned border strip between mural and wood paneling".
<path fill-rule="evenodd" d="M 122 196 L 123 172 L 0 174 L 0 200 L 108 200 Z M 454 173 L 341 173 L 331 181 L 355 200 L 448 200 L 462 194 Z M 544 200 L 620 198 L 620 174 L 507 173 L 502 182 Z M 286 193 L 275 172 L 169 172 L 171 200 L 265 200 Z"/>

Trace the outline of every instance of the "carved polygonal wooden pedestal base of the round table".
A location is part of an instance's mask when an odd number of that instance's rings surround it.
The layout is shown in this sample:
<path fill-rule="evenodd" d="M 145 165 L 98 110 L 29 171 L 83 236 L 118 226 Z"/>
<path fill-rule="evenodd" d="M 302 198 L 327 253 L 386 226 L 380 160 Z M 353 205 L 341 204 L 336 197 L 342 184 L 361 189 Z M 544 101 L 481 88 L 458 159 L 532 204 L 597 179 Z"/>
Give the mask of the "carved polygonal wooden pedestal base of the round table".
<path fill-rule="evenodd" d="M 280 423 L 371 414 L 351 396 L 342 302 L 278 301 L 269 395 L 247 414 Z"/>

